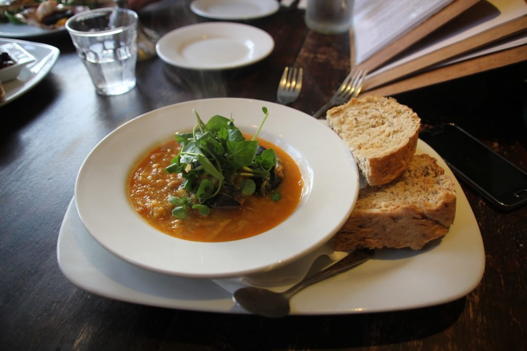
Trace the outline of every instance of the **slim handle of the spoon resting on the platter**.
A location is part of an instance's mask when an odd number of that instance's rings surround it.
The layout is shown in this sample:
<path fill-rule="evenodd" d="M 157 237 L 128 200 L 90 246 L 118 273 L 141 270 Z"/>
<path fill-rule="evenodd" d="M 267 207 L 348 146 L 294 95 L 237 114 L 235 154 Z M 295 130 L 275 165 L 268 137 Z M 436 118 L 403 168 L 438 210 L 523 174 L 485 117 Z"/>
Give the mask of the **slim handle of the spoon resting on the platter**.
<path fill-rule="evenodd" d="M 291 297 L 295 295 L 301 289 L 304 289 L 305 287 L 311 284 L 315 284 L 316 282 L 320 280 L 324 280 L 326 278 L 333 277 L 340 273 L 343 273 L 352 267 L 362 264 L 363 262 L 370 259 L 372 256 L 373 256 L 373 250 L 369 250 L 369 249 L 355 250 L 349 253 L 349 255 L 346 256 L 345 258 L 337 261 L 335 264 L 329 267 L 326 267 L 325 269 L 318 271 L 315 274 L 310 275 L 309 277 L 304 278 L 304 280 L 301 280 L 294 286 L 282 292 L 282 294 L 288 297 Z"/>

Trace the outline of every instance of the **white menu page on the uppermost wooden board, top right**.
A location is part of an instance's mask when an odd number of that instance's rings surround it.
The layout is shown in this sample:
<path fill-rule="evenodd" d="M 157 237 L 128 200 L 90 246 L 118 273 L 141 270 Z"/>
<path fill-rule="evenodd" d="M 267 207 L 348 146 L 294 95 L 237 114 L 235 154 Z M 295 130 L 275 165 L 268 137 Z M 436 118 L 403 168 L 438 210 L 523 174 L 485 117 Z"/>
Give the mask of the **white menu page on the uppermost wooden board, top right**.
<path fill-rule="evenodd" d="M 453 0 L 355 0 L 355 62 L 370 56 L 412 30 Z"/>

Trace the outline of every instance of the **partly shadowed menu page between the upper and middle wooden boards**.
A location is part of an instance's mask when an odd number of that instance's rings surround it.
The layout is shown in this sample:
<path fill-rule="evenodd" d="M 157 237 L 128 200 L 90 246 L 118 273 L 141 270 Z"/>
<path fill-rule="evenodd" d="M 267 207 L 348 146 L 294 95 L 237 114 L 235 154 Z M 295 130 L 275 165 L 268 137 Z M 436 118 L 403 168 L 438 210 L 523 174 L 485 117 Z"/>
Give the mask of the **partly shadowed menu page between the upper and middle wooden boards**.
<path fill-rule="evenodd" d="M 412 48 L 412 51 L 399 60 L 385 65 L 368 76 L 373 77 L 392 70 L 406 62 L 461 42 L 489 28 L 502 25 L 524 15 L 527 15 L 527 3 L 524 0 L 482 1 L 454 19 L 452 23 L 445 25 L 440 31 L 432 33 L 428 38 L 419 42 Z"/>

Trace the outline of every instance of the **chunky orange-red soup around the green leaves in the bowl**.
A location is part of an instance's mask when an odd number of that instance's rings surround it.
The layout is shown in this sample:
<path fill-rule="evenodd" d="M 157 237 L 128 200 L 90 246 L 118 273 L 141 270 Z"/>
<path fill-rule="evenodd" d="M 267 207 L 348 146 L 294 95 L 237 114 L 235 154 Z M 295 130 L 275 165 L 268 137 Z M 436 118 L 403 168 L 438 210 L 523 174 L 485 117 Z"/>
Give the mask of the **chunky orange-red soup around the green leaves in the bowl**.
<path fill-rule="evenodd" d="M 212 209 L 208 216 L 192 211 L 185 219 L 172 216 L 174 206 L 168 197 L 180 196 L 183 178 L 165 168 L 178 154 L 180 145 L 170 141 L 145 155 L 130 177 L 128 192 L 132 206 L 152 227 L 192 241 L 231 241 L 252 237 L 276 227 L 296 209 L 304 185 L 296 162 L 276 145 L 259 140 L 262 147 L 274 149 L 284 167 L 284 178 L 277 187 L 278 201 L 253 194 L 238 209 Z"/>

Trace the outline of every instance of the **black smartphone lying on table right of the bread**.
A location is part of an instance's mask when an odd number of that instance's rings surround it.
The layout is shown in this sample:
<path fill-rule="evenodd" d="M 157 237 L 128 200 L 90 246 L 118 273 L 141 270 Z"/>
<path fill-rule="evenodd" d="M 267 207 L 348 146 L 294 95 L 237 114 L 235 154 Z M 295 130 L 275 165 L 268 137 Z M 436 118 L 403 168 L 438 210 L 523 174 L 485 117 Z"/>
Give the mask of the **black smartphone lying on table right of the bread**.
<path fill-rule="evenodd" d="M 527 173 L 455 124 L 419 133 L 457 176 L 502 209 L 527 203 Z"/>

